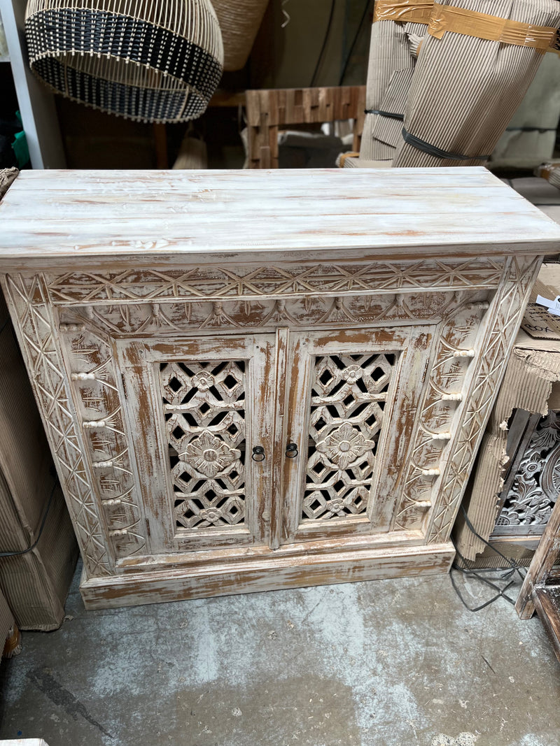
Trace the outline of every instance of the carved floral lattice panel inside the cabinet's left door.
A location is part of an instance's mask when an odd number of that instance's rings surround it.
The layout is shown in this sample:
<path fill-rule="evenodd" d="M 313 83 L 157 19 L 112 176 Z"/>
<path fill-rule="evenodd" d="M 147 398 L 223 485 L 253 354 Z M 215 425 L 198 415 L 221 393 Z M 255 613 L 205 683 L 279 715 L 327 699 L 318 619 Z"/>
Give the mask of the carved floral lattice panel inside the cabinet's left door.
<path fill-rule="evenodd" d="M 175 525 L 245 522 L 245 363 L 161 363 Z"/>

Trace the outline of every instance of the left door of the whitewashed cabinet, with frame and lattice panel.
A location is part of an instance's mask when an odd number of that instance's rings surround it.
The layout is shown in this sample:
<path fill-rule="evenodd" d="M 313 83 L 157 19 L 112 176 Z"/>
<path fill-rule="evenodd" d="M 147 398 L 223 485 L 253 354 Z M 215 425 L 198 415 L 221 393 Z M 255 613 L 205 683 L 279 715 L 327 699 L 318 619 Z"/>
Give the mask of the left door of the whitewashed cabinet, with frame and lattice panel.
<path fill-rule="evenodd" d="M 152 554 L 267 544 L 274 336 L 116 344 Z"/>

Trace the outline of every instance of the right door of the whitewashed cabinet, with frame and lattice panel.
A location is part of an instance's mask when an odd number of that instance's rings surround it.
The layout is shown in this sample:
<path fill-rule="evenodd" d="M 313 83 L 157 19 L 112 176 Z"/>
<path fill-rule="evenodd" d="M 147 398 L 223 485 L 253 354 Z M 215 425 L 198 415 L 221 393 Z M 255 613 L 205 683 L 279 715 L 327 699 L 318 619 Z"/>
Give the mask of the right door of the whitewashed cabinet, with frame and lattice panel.
<path fill-rule="evenodd" d="M 388 532 L 431 345 L 429 327 L 293 334 L 282 542 Z"/>

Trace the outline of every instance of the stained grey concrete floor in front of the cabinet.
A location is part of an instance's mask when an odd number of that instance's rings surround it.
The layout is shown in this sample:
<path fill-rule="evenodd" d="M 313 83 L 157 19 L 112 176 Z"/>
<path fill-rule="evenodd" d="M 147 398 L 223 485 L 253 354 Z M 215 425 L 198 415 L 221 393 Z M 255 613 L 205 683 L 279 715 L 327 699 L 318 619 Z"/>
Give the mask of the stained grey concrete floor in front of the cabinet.
<path fill-rule="evenodd" d="M 462 580 L 458 580 L 462 584 Z M 468 581 L 470 604 L 482 598 Z M 488 598 L 488 596 L 486 597 Z M 0 666 L 0 737 L 49 746 L 557 746 L 537 618 L 447 575 L 85 612 Z"/>

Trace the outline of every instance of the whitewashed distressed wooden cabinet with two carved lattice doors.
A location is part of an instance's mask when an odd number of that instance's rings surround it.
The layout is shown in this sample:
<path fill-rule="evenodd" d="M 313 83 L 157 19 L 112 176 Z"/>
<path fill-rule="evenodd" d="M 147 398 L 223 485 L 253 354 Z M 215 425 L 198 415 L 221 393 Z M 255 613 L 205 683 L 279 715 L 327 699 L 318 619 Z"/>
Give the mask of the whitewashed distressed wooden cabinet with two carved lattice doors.
<path fill-rule="evenodd" d="M 88 607 L 447 571 L 539 210 L 481 168 L 66 171 L 0 220 Z"/>

